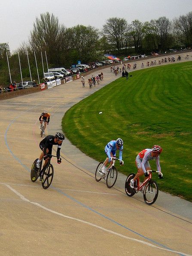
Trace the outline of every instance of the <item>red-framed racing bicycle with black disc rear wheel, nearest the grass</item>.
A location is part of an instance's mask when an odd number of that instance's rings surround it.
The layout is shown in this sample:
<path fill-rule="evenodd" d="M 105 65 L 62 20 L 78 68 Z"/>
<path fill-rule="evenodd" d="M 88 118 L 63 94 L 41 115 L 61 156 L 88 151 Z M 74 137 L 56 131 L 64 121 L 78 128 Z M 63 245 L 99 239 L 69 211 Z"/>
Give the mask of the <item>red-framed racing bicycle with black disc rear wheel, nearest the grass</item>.
<path fill-rule="evenodd" d="M 155 180 L 152 180 L 152 172 L 163 174 L 159 171 L 148 170 L 149 176 L 143 183 L 139 183 L 139 178 L 137 178 L 134 182 L 134 188 L 132 189 L 130 186 L 130 181 L 135 177 L 134 173 L 128 175 L 125 181 L 125 192 L 128 196 L 133 196 L 135 193 L 139 191 L 143 193 L 143 198 L 146 204 L 151 205 L 154 204 L 158 197 L 158 185 Z"/>

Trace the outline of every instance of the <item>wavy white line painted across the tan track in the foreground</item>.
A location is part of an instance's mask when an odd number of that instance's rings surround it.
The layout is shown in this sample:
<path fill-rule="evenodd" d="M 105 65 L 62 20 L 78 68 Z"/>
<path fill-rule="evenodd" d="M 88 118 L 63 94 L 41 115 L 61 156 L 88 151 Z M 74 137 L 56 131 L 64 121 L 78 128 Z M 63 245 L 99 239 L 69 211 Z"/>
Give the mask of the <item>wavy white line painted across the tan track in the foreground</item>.
<path fill-rule="evenodd" d="M 156 249 L 169 251 L 169 252 L 171 252 L 171 253 L 179 253 L 179 254 L 182 254 L 182 255 L 184 255 L 184 256 L 191 256 L 191 255 L 189 255 L 189 254 L 185 254 L 185 253 L 177 252 L 177 251 L 174 251 L 174 250 L 169 250 L 169 249 L 166 249 L 166 248 L 158 247 L 158 246 L 156 246 L 156 245 L 153 245 L 153 244 L 150 244 L 150 243 L 148 243 L 148 242 L 141 241 L 141 240 L 138 240 L 138 239 L 135 239 L 135 238 L 130 238 L 130 237 L 128 237 L 128 236 L 125 236 L 125 235 L 122 235 L 122 234 L 113 232 L 112 230 L 105 229 L 105 228 L 103 228 L 103 227 L 101 227 L 101 226 L 95 225 L 95 224 L 93 224 L 93 223 L 91 223 L 91 222 L 87 222 L 87 221 L 82 220 L 82 219 L 76 219 L 76 218 L 73 218 L 73 217 L 64 215 L 64 214 L 62 214 L 62 213 L 58 213 L 58 212 L 56 212 L 55 210 L 51 210 L 51 209 L 49 209 L 49 208 L 46 208 L 46 207 L 44 207 L 44 206 L 41 205 L 41 204 L 38 204 L 38 203 L 36 203 L 36 202 L 31 202 L 31 201 L 29 201 L 27 198 L 25 198 L 23 195 L 21 195 L 19 192 L 17 192 L 15 189 L 13 189 L 13 188 L 12 188 L 11 186 L 9 186 L 8 184 L 4 183 L 4 185 L 5 185 L 6 187 L 8 187 L 9 189 L 11 189 L 12 192 L 14 192 L 16 195 L 18 195 L 23 201 L 26 201 L 26 202 L 29 202 L 29 203 L 31 203 L 31 204 L 34 204 L 34 205 L 36 205 L 36 206 L 38 206 L 38 207 L 40 207 L 40 208 L 42 208 L 42 209 L 44 209 L 44 210 L 46 210 L 46 211 L 49 211 L 49 212 L 54 213 L 54 214 L 57 214 L 57 215 L 62 216 L 62 217 L 64 217 L 64 218 L 73 219 L 73 220 L 76 220 L 76 221 L 78 221 L 78 222 L 85 223 L 85 224 L 87 224 L 87 225 L 89 225 L 89 226 L 95 227 L 95 228 L 97 228 L 97 229 L 101 229 L 101 230 L 103 230 L 103 231 L 105 231 L 105 232 L 108 232 L 108 233 L 110 233 L 110 234 L 117 235 L 117 236 L 119 236 L 119 237 L 122 237 L 122 238 L 125 238 L 125 239 L 128 239 L 128 240 L 131 240 L 131 241 L 135 241 L 135 242 L 140 243 L 140 244 L 145 244 L 145 245 L 147 245 L 147 246 L 149 246 L 149 247 L 153 247 L 153 248 L 156 248 Z"/>

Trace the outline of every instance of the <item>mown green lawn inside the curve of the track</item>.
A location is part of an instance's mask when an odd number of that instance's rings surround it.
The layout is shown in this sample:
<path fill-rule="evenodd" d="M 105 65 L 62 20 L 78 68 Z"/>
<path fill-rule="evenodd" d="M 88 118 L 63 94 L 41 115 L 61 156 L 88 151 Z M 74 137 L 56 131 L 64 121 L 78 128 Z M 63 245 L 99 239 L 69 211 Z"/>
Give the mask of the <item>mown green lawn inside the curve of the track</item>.
<path fill-rule="evenodd" d="M 102 114 L 99 114 L 99 112 Z M 192 201 L 192 62 L 138 70 L 121 77 L 67 111 L 62 128 L 86 155 L 102 161 L 110 140 L 124 140 L 124 174 L 136 172 L 135 157 L 162 146 L 159 188 Z M 155 162 L 150 161 L 153 169 Z M 156 176 L 156 177 L 155 177 Z"/>

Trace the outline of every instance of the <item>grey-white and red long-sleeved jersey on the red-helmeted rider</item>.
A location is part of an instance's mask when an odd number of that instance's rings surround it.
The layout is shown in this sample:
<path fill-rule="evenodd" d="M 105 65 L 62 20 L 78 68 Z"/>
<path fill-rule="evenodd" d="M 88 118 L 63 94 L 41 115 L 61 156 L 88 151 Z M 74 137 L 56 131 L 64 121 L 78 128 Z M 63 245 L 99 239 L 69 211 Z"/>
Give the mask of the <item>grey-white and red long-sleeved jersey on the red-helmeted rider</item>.
<path fill-rule="evenodd" d="M 155 159 L 157 165 L 157 171 L 161 171 L 161 167 L 159 164 L 159 155 L 152 156 L 152 149 L 143 149 L 136 157 L 136 165 L 137 168 L 142 168 L 143 172 L 146 173 L 146 167 L 150 168 L 149 160 Z"/>

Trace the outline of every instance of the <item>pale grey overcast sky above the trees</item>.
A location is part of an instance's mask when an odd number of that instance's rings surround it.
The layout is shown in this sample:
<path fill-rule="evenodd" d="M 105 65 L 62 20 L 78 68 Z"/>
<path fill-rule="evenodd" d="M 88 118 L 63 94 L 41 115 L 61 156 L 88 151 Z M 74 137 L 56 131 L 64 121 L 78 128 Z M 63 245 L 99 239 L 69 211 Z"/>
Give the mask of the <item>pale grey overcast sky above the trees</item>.
<path fill-rule="evenodd" d="M 108 18 L 138 19 L 179 17 L 192 11 L 192 0 L 0 0 L 0 43 L 11 51 L 27 42 L 36 17 L 53 13 L 65 27 L 77 24 L 101 29 Z"/>

